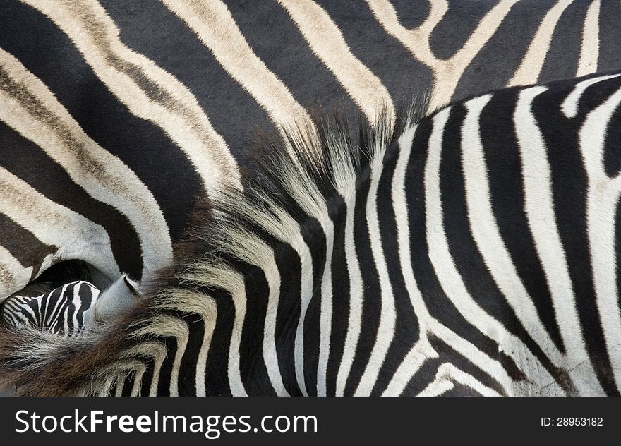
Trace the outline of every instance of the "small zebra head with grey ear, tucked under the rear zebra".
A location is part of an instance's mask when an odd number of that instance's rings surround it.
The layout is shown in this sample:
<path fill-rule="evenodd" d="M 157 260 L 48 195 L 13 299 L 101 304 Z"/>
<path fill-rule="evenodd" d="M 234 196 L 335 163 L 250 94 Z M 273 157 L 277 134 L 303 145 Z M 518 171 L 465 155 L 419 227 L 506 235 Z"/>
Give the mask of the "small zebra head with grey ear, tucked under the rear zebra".
<path fill-rule="evenodd" d="M 0 305 L 0 322 L 31 327 L 54 335 L 77 336 L 96 324 L 114 320 L 140 300 L 140 287 L 126 275 L 101 291 L 85 280 L 54 289 L 44 283 L 26 287 Z"/>

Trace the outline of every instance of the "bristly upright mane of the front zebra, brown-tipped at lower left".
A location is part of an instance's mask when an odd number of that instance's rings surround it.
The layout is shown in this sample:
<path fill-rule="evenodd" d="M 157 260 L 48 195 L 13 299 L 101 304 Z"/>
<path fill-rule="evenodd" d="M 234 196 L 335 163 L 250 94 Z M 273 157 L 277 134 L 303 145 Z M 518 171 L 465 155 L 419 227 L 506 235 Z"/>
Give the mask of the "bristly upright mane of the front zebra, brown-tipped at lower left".
<path fill-rule="evenodd" d="M 312 122 L 260 133 L 253 152 L 258 173 L 243 174 L 243 190 L 200 200 L 193 224 L 175 246 L 173 265 L 145 286 L 145 299 L 112 325 L 79 337 L 31 328 L 0 327 L 0 389 L 23 395 L 108 394 L 128 374 L 142 375 L 145 359 L 162 361 L 164 339 L 187 339 L 181 318 L 199 315 L 215 324 L 210 294 L 243 287 L 243 267 L 273 255 L 266 238 L 296 243 L 308 219 L 351 203 L 358 187 L 397 150 L 402 130 L 427 113 L 428 97 L 396 114 L 383 111 L 370 125 L 361 119 L 357 142 L 346 115 L 313 111 Z M 349 195 L 349 196 L 348 196 Z M 344 201 L 343 201 L 344 200 Z M 311 216 L 311 217 L 309 217 Z M 270 254 L 271 253 L 271 254 Z"/>

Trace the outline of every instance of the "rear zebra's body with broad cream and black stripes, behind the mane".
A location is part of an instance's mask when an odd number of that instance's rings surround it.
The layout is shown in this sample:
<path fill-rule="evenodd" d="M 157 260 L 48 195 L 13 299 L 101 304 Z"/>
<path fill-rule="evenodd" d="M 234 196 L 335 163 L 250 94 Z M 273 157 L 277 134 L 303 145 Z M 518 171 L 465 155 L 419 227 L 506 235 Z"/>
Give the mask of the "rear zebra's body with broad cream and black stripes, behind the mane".
<path fill-rule="evenodd" d="M 613 1 L 5 0 L 0 301 L 50 265 L 104 289 L 173 259 L 254 129 L 621 67 Z M 356 136 L 354 135 L 354 138 Z M 24 203 L 28 203 L 24 205 Z"/>

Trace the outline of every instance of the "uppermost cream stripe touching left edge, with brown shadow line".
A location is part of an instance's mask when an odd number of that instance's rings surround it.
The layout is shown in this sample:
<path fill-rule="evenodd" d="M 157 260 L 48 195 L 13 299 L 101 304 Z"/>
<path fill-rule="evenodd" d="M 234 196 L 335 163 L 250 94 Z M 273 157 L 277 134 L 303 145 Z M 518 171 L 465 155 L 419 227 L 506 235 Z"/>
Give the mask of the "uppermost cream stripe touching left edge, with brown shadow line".
<path fill-rule="evenodd" d="M 88 195 L 127 216 L 140 239 L 145 272 L 167 265 L 172 260 L 167 222 L 157 201 L 143 182 L 119 158 L 90 139 L 47 86 L 28 72 L 15 57 L 1 49 L 0 64 L 13 80 L 41 102 L 44 110 L 40 113 L 48 113 L 54 122 L 46 122 L 40 116 L 33 115 L 20 100 L 11 96 L 11 92 L 1 88 L 0 101 L 4 106 L 0 107 L 0 120 L 41 147 Z M 21 219 L 12 218 L 22 222 Z M 47 225 L 50 222 L 40 220 L 39 224 Z M 37 238 L 42 240 L 38 236 Z M 58 246 L 62 242 L 64 239 L 52 239 L 49 244 Z M 60 246 L 61 249 L 76 250 L 65 244 Z M 100 258 L 102 259 L 97 260 L 97 264 L 114 262 L 111 255 L 104 257 L 100 253 Z M 104 272 L 111 268 L 111 265 L 103 269 L 98 267 Z"/>

